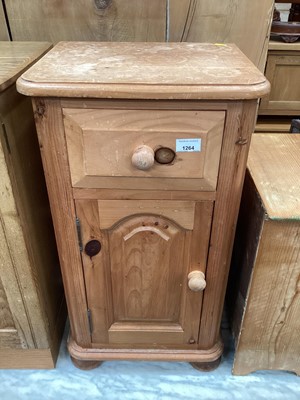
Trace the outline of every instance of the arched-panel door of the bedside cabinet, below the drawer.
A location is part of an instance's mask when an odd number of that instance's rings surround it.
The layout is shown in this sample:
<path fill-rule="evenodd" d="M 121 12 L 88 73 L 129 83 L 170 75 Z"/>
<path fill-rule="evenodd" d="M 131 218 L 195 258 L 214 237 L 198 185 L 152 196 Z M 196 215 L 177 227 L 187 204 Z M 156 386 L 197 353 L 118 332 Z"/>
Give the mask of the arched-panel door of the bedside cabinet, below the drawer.
<path fill-rule="evenodd" d="M 82 261 L 97 346 L 196 346 L 211 202 L 76 201 Z"/>

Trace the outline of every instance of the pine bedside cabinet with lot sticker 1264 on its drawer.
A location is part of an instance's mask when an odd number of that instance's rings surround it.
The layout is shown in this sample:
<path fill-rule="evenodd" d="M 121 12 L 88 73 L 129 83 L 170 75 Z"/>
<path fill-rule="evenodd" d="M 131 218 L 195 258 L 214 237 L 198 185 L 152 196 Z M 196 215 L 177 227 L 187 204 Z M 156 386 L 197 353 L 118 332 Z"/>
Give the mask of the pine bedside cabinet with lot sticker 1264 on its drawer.
<path fill-rule="evenodd" d="M 231 45 L 60 43 L 27 71 L 77 366 L 217 365 L 257 98 Z"/>

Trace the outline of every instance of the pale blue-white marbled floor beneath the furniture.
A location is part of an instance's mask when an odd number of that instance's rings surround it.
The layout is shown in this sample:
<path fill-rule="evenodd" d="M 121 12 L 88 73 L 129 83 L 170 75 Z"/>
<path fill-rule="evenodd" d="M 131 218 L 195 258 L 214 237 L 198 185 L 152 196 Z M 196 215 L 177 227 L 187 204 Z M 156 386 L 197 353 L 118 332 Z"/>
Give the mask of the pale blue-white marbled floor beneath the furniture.
<path fill-rule="evenodd" d="M 228 332 L 225 337 L 228 337 Z M 233 376 L 232 341 L 218 369 L 199 372 L 188 363 L 104 362 L 91 371 L 75 368 L 66 349 L 55 370 L 0 370 L 1 400 L 300 400 L 300 378 L 260 371 Z"/>

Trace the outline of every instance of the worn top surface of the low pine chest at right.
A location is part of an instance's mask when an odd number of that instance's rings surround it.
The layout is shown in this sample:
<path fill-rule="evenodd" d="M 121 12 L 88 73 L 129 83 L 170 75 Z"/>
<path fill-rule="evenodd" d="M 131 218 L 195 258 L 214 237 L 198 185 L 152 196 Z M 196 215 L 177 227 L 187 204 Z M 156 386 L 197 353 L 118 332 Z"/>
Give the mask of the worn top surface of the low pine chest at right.
<path fill-rule="evenodd" d="M 254 134 L 248 169 L 270 219 L 300 220 L 300 135 Z"/>

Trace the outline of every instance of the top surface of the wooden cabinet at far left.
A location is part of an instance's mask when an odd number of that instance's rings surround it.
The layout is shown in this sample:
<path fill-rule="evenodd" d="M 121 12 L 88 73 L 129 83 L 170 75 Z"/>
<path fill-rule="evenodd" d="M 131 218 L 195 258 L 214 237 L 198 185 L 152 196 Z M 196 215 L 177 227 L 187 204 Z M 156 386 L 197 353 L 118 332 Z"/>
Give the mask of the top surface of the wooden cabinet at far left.
<path fill-rule="evenodd" d="M 0 92 L 51 47 L 45 42 L 0 42 Z"/>

